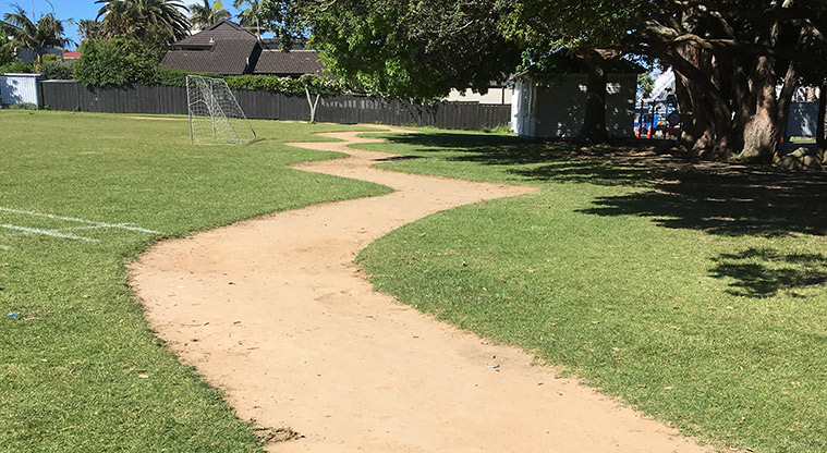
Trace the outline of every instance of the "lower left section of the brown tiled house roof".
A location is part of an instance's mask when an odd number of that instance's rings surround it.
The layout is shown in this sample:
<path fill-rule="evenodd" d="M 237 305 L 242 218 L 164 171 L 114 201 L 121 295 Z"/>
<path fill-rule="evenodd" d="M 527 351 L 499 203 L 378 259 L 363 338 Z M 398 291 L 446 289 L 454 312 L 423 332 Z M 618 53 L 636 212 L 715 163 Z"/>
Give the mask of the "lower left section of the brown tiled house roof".
<path fill-rule="evenodd" d="M 211 50 L 171 50 L 161 64 L 186 72 L 212 72 L 222 75 L 244 74 L 256 40 L 221 39 Z"/>

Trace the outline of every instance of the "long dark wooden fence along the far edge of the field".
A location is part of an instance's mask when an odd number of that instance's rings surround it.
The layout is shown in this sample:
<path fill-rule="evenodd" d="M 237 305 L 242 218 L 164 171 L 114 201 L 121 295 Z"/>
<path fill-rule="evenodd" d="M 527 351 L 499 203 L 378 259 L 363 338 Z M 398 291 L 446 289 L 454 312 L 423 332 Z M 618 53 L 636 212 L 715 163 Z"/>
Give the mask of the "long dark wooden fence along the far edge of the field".
<path fill-rule="evenodd" d="M 106 113 L 187 114 L 186 88 L 180 86 L 84 87 L 71 81 L 39 83 L 41 107 Z M 247 118 L 308 120 L 304 95 L 233 89 Z M 479 130 L 508 124 L 509 105 L 439 102 L 423 106 L 399 99 L 369 96 L 323 96 L 316 120 L 329 123 L 381 123 L 388 125 L 435 126 Z"/>

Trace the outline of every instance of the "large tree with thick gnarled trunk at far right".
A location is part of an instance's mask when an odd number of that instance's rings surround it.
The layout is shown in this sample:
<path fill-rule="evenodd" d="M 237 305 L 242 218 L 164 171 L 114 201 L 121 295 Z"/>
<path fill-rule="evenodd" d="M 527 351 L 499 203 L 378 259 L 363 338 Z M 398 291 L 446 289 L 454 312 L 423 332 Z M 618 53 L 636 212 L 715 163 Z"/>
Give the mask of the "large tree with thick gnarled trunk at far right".
<path fill-rule="evenodd" d="M 639 7 L 629 40 L 674 69 L 684 146 L 702 157 L 771 158 L 794 89 L 823 66 L 814 56 L 827 44 L 827 2 L 639 0 Z"/>

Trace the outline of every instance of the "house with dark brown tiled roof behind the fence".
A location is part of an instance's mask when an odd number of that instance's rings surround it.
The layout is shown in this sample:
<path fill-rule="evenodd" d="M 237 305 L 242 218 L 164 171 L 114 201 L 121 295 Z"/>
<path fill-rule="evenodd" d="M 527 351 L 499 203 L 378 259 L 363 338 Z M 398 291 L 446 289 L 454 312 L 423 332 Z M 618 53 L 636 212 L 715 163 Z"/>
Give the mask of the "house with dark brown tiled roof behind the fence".
<path fill-rule="evenodd" d="M 221 75 L 297 77 L 323 72 L 316 51 L 305 49 L 303 44 L 282 51 L 277 39 L 262 39 L 227 20 L 173 44 L 161 64 L 186 72 Z"/>

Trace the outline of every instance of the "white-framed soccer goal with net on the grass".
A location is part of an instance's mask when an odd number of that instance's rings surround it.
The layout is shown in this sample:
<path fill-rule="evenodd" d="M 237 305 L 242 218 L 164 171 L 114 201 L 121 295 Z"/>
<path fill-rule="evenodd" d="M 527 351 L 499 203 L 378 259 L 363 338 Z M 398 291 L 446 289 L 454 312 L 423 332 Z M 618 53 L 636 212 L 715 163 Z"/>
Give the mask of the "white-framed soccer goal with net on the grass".
<path fill-rule="evenodd" d="M 223 78 L 187 75 L 186 101 L 193 145 L 246 145 L 256 139 Z"/>

